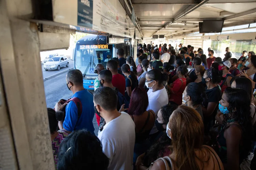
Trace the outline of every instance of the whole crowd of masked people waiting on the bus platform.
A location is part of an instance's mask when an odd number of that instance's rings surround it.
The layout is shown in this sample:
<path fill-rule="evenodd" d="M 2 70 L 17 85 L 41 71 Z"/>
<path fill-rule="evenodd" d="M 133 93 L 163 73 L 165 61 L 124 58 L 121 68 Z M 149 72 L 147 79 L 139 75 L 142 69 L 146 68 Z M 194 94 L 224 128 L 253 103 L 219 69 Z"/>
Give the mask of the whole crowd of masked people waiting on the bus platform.
<path fill-rule="evenodd" d="M 241 169 L 256 152 L 255 53 L 179 47 L 140 44 L 136 60 L 118 49 L 95 67 L 94 94 L 70 70 L 73 96 L 48 108 L 55 168 Z"/>

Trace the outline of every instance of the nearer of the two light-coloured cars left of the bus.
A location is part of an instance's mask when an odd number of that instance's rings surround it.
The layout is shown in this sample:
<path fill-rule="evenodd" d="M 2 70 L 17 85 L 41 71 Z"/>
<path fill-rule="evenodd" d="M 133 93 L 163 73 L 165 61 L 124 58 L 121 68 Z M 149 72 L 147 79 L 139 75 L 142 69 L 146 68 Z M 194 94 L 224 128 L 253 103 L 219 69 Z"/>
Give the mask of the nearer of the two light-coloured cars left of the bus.
<path fill-rule="evenodd" d="M 69 59 L 64 55 L 51 57 L 44 63 L 44 69 L 46 71 L 60 70 L 61 67 L 69 67 Z"/>

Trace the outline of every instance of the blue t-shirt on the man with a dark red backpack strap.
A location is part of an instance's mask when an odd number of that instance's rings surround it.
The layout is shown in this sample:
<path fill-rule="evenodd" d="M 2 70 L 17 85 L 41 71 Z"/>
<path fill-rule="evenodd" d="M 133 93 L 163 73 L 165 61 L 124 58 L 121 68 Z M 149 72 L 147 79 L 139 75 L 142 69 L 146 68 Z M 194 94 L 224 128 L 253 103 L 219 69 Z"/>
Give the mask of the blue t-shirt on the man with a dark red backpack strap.
<path fill-rule="evenodd" d="M 78 111 L 75 103 L 70 101 L 66 106 L 66 117 L 63 122 L 63 128 L 67 131 L 79 129 L 87 129 L 94 134 L 93 118 L 94 118 L 94 103 L 93 95 L 87 89 L 77 91 L 71 98 L 77 97 L 82 103 L 82 114 L 77 122 Z M 76 124 L 77 122 L 77 124 Z M 76 125 L 75 125 L 76 124 Z"/>

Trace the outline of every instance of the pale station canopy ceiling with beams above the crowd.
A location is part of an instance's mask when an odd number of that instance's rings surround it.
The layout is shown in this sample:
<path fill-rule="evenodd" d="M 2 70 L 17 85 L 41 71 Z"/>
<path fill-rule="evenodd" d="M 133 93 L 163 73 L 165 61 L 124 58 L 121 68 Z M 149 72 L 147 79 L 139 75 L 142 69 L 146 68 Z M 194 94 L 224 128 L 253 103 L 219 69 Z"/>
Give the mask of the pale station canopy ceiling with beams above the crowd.
<path fill-rule="evenodd" d="M 203 20 L 223 27 L 256 21 L 255 0 L 131 0 L 144 37 L 175 37 L 199 31 Z"/>

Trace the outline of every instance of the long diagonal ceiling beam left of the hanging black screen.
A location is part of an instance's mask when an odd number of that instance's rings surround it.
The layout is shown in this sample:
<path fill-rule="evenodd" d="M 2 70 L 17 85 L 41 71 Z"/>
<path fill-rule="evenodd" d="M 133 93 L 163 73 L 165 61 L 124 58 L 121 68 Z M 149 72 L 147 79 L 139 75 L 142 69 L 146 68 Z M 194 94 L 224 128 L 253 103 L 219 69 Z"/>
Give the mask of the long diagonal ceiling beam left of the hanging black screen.
<path fill-rule="evenodd" d="M 193 5 L 189 5 L 184 11 L 182 11 L 180 14 L 176 15 L 174 17 L 174 20 L 172 22 L 168 22 L 167 24 L 165 24 L 165 26 L 161 29 L 159 29 L 156 33 L 158 33 L 159 31 L 165 29 L 166 27 L 169 27 L 173 22 L 181 19 L 182 17 L 184 17 L 185 15 L 189 14 L 190 12 L 196 10 L 197 8 L 199 8 L 200 6 L 202 6 L 203 4 L 209 2 L 210 0 L 202 0 L 199 4 L 193 4 Z"/>

